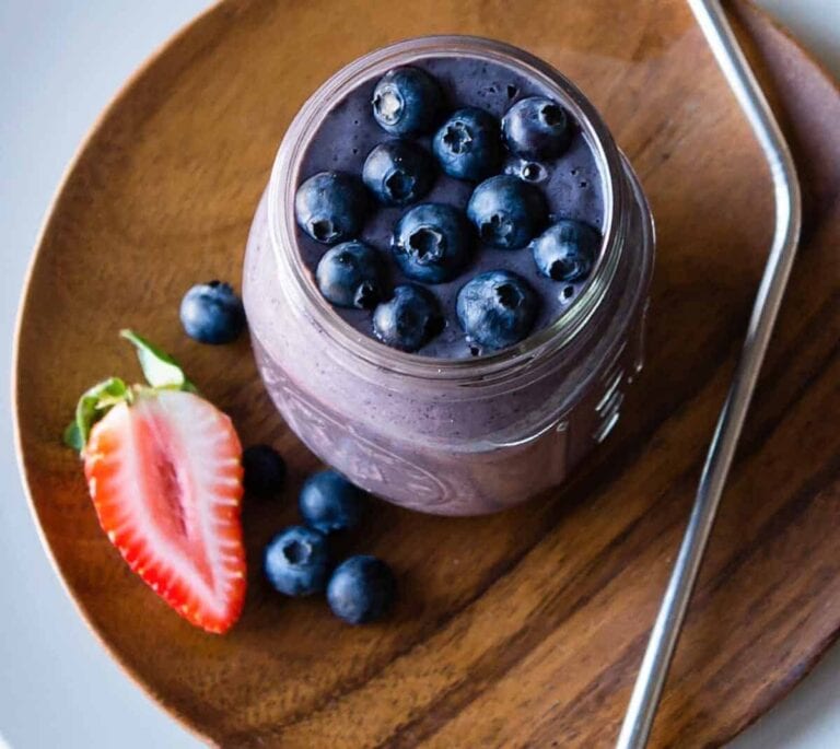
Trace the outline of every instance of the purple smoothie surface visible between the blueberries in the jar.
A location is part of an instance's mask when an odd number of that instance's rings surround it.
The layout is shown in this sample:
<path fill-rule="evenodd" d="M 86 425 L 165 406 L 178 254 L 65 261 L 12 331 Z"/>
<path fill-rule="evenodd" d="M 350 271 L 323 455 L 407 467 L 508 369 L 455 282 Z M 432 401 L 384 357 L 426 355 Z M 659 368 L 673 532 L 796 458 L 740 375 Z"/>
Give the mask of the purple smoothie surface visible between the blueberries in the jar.
<path fill-rule="evenodd" d="M 539 82 L 499 62 L 477 57 L 428 57 L 412 61 L 440 83 L 446 98 L 446 109 L 479 107 L 501 119 L 516 102 L 528 96 L 546 96 L 562 101 Z M 352 89 L 336 102 L 313 134 L 301 163 L 301 177 L 327 171 L 360 175 L 370 151 L 378 143 L 390 140 L 372 115 L 371 100 L 380 77 L 373 77 Z M 431 151 L 430 137 L 412 138 Z M 509 153 L 501 173 L 522 175 L 528 162 Z M 576 219 L 603 233 L 604 200 L 603 176 L 594 154 L 580 128 L 574 127 L 571 145 L 556 160 L 538 162 L 539 176 L 533 184 L 546 198 L 550 218 Z M 443 202 L 466 209 L 474 183 L 446 176 L 439 171 L 432 189 L 417 202 Z M 412 203 L 417 204 L 417 203 Z M 359 238 L 376 248 L 388 268 L 393 285 L 410 282 L 402 274 L 390 251 L 394 226 L 410 208 L 384 207 L 372 200 L 372 210 Z M 298 247 L 304 264 L 314 272 L 327 247 L 296 230 Z M 495 269 L 512 270 L 527 279 L 540 297 L 540 311 L 532 332 L 551 324 L 575 299 L 585 279 L 576 283 L 558 282 L 537 272 L 528 248 L 508 250 L 478 245 L 471 264 L 453 281 L 428 285 L 438 297 L 445 318 L 443 332 L 417 353 L 444 359 L 466 359 L 479 350 L 470 348 L 455 314 L 455 301 L 460 288 L 476 274 Z M 371 313 L 363 309 L 336 308 L 336 312 L 358 331 L 373 337 Z"/>

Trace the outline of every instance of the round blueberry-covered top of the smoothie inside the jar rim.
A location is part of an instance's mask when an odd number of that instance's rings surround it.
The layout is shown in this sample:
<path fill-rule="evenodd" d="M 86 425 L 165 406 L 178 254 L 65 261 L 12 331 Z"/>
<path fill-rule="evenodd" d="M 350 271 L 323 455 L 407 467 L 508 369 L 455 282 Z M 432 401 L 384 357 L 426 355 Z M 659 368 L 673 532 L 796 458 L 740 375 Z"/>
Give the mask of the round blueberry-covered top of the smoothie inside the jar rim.
<path fill-rule="evenodd" d="M 295 249 L 357 338 L 442 359 L 520 342 L 594 272 L 597 154 L 570 100 L 524 68 L 389 65 L 326 103 L 296 166 Z"/>

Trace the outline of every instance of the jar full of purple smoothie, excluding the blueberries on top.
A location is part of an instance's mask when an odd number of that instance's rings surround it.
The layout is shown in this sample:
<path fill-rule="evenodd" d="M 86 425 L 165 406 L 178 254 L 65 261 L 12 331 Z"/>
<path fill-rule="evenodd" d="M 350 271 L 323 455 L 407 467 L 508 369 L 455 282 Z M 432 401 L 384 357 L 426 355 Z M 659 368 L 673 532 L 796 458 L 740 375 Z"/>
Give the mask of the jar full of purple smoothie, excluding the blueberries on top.
<path fill-rule="evenodd" d="M 359 175 L 370 150 L 389 138 L 373 118 L 371 94 L 387 70 L 405 65 L 438 79 L 450 110 L 479 106 L 499 117 L 529 95 L 565 108 L 576 125 L 571 148 L 545 164 L 537 185 L 556 218 L 605 235 L 591 282 L 570 296 L 568 284 L 537 273 L 529 249 L 479 248 L 457 279 L 427 286 L 447 327 L 420 350 L 425 355 L 376 340 L 370 313 L 326 302 L 313 270 L 327 246 L 299 231 L 293 210 L 301 182 L 325 171 Z M 428 138 L 420 142 L 428 148 Z M 439 176 L 421 202 L 463 209 L 472 188 Z M 405 282 L 389 248 L 405 210 L 377 207 L 360 235 L 382 253 L 394 284 Z M 289 428 L 365 490 L 443 515 L 509 507 L 560 483 L 618 422 L 625 388 L 641 365 L 653 239 L 641 187 L 603 120 L 545 62 L 475 37 L 421 37 L 375 50 L 302 107 L 254 218 L 243 295 L 260 375 Z M 541 316 L 520 346 L 475 356 L 454 314 L 455 295 L 478 272 L 497 268 L 517 271 L 537 289 Z"/>

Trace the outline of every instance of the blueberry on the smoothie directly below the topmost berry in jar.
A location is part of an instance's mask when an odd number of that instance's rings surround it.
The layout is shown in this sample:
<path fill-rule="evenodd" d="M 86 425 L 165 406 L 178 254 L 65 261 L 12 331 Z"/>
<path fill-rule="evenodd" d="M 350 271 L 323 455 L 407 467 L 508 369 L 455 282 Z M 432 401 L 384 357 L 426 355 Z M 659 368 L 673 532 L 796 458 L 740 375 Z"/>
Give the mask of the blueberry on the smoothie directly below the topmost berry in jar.
<path fill-rule="evenodd" d="M 419 145 L 392 140 L 380 143 L 368 154 L 362 179 L 380 202 L 405 206 L 429 191 L 434 179 L 434 163 Z"/>

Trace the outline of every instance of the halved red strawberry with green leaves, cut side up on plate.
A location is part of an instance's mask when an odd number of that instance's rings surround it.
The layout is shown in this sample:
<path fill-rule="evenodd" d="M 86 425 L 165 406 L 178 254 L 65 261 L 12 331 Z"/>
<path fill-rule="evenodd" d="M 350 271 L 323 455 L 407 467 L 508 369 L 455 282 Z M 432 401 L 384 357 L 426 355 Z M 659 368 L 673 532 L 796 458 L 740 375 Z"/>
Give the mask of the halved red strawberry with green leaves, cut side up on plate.
<path fill-rule="evenodd" d="M 159 375 L 162 361 L 179 372 L 126 337 L 150 382 L 152 364 Z M 180 377 L 177 386 L 112 378 L 92 388 L 77 410 L 77 442 L 100 525 L 131 570 L 192 624 L 221 633 L 245 598 L 242 446 L 231 420 Z"/>

